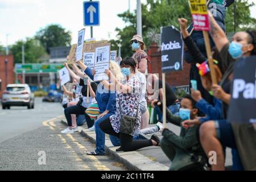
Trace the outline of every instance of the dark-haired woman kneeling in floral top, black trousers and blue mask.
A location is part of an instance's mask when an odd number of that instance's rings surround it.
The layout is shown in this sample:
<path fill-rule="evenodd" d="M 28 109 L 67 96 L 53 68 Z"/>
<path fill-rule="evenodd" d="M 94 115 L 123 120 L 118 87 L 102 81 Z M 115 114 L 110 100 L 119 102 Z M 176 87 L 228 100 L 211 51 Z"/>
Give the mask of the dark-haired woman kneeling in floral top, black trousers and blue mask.
<path fill-rule="evenodd" d="M 121 65 L 124 67 L 122 68 L 122 72 L 127 80 L 126 82 L 123 81 L 125 82 L 124 84 L 119 82 L 109 70 L 106 70 L 105 72 L 113 83 L 110 86 L 110 89 L 115 90 L 117 94 L 117 111 L 114 115 L 111 115 L 110 118 L 102 121 L 100 123 L 100 128 L 104 133 L 118 137 L 121 140 L 121 150 L 123 151 L 134 151 L 143 147 L 157 146 L 159 144 L 159 138 L 155 135 L 149 140 L 133 140 L 134 133 L 141 126 L 141 111 L 138 107 L 139 96 L 141 93 L 141 81 L 135 76 L 136 63 L 132 57 L 127 57 L 122 60 Z M 121 105 L 121 108 L 119 104 Z M 138 116 L 135 120 L 131 135 L 121 133 L 119 130 L 121 125 L 121 114 L 136 117 L 137 110 Z"/>

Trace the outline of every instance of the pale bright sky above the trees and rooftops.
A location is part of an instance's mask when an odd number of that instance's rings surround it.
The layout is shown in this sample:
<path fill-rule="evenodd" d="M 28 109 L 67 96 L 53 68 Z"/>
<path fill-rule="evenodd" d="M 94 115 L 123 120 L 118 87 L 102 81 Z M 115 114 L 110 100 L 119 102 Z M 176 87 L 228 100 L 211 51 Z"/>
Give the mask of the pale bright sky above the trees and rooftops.
<path fill-rule="evenodd" d="M 129 0 L 99 0 L 100 26 L 94 27 L 93 34 L 97 40 L 115 38 L 115 27 L 125 27 L 117 14 L 128 9 Z M 255 0 L 250 0 L 255 1 Z M 0 0 L 0 44 L 6 46 L 26 37 L 32 37 L 40 28 L 58 23 L 72 32 L 72 43 L 76 42 L 77 32 L 84 28 L 84 0 Z M 136 8 L 137 0 L 130 0 L 131 11 Z M 146 0 L 142 0 L 142 3 Z M 256 7 L 251 9 L 256 18 Z M 90 27 L 85 27 L 85 39 L 90 38 Z"/>

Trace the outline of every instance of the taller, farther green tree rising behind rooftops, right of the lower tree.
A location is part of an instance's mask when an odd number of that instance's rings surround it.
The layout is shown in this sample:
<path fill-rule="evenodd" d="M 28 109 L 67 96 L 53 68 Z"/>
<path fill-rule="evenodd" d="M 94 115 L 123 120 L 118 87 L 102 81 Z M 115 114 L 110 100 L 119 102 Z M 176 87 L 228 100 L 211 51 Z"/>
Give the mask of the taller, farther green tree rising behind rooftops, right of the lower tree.
<path fill-rule="evenodd" d="M 71 32 L 65 30 L 59 24 L 51 24 L 42 30 L 36 32 L 36 39 L 39 39 L 47 53 L 50 47 L 55 46 L 70 46 L 71 45 Z"/>

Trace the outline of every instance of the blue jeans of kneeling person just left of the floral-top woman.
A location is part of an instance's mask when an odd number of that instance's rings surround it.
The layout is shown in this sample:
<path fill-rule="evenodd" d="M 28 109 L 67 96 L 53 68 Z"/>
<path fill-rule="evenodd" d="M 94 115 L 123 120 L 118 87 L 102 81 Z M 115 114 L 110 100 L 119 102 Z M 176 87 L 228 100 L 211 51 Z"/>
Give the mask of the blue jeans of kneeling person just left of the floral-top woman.
<path fill-rule="evenodd" d="M 105 154 L 105 133 L 100 129 L 100 123 L 106 118 L 109 118 L 113 113 L 108 113 L 104 117 L 97 119 L 94 122 L 95 133 L 96 133 L 96 150 L 97 154 Z"/>

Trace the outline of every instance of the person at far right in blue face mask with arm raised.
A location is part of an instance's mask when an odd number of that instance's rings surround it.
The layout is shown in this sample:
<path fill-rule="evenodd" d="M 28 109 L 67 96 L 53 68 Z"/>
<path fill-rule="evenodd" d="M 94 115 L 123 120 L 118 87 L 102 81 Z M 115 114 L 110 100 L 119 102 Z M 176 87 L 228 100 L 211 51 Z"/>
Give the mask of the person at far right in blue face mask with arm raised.
<path fill-rule="evenodd" d="M 249 134 L 255 138 L 253 124 L 233 125 L 226 121 L 227 111 L 230 102 L 230 84 L 233 77 L 233 65 L 237 59 L 256 55 L 256 31 L 241 31 L 233 36 L 232 43 L 229 43 L 224 31 L 218 26 L 212 14 L 209 13 L 210 35 L 220 52 L 221 64 L 226 72 L 222 77 L 220 85 L 213 85 L 214 97 L 223 103 L 224 120 L 208 121 L 200 127 L 200 140 L 205 154 L 216 151 L 217 164 L 212 165 L 212 170 L 225 170 L 225 158 L 222 146 L 227 146 L 238 150 L 242 166 L 245 170 L 251 170 L 256 166 L 255 148 L 256 142 L 243 139 L 243 134 Z M 242 121 L 241 121 L 242 122 Z M 237 145 L 239 144 L 239 145 Z M 249 147 L 250 146 L 250 147 Z M 210 158 L 210 156 L 208 156 Z M 240 168 L 241 169 L 241 168 Z"/>

